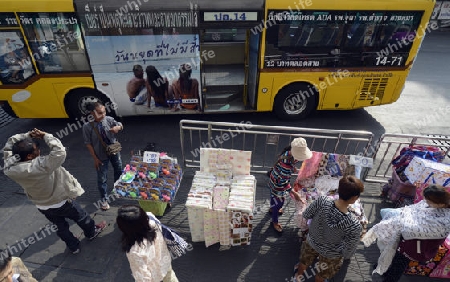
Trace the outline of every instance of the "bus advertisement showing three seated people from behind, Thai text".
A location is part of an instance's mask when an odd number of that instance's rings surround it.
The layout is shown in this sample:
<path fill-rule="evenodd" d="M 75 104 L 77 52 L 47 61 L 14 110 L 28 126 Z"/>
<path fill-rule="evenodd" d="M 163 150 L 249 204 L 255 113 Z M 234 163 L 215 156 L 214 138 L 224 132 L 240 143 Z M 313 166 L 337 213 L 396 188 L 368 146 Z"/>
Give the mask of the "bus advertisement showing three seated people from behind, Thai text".
<path fill-rule="evenodd" d="M 191 12 L 81 14 L 95 83 L 121 115 L 201 110 L 195 20 Z"/>

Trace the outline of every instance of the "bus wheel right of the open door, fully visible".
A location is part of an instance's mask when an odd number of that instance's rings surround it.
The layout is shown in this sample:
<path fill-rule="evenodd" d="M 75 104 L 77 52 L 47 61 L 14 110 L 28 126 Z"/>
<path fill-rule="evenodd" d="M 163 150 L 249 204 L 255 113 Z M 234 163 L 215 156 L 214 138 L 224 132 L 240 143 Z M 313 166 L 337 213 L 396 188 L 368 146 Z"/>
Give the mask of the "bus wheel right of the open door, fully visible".
<path fill-rule="evenodd" d="M 273 110 L 280 119 L 304 119 L 317 107 L 317 98 L 317 91 L 310 84 L 290 84 L 278 92 Z"/>

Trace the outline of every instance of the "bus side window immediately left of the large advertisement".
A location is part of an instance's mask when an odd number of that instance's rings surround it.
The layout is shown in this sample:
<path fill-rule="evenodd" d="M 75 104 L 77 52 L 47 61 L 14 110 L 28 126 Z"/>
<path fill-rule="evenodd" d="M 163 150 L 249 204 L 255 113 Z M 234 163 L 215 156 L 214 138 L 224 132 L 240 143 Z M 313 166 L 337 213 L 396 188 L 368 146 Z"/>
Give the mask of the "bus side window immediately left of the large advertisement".
<path fill-rule="evenodd" d="M 74 13 L 21 13 L 23 25 L 41 73 L 90 71 L 81 29 Z"/>

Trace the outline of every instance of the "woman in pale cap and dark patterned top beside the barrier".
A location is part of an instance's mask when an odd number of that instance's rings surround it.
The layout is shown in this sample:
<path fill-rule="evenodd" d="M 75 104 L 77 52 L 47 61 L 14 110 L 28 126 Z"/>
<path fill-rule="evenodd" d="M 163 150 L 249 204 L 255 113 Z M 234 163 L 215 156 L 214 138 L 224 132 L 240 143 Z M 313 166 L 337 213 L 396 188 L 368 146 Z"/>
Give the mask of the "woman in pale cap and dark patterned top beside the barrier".
<path fill-rule="evenodd" d="M 306 140 L 303 138 L 295 138 L 291 145 L 284 148 L 280 154 L 277 162 L 273 166 L 269 174 L 269 189 L 270 189 L 270 212 L 272 213 L 272 226 L 281 233 L 283 227 L 278 223 L 278 214 L 282 213 L 285 196 L 291 194 L 293 197 L 299 195 L 292 191 L 291 188 L 291 174 L 297 169 L 295 164 L 298 161 L 304 161 L 312 157 Z"/>

